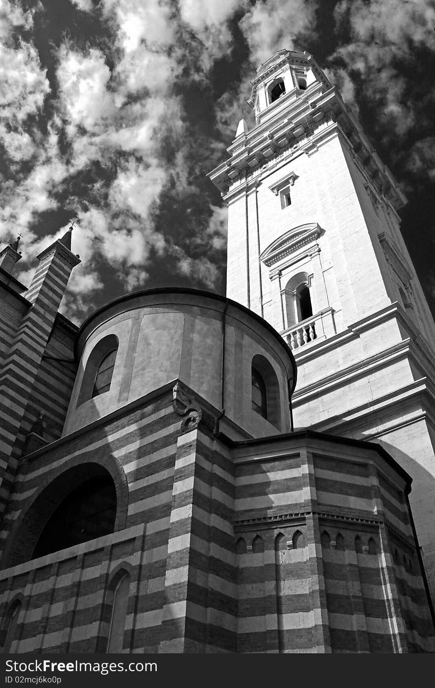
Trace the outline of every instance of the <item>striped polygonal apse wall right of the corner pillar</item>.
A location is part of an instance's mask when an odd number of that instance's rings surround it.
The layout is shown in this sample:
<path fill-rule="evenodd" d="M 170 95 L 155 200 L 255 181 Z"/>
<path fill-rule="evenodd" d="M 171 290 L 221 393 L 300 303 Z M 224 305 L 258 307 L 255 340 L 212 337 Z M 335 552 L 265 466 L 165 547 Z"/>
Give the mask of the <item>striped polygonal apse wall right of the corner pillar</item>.
<path fill-rule="evenodd" d="M 261 458 L 261 449 L 236 459 L 238 651 L 433 651 L 408 508 L 391 469 L 352 447 L 346 458 L 342 448 L 331 453 L 327 442 L 324 455 L 305 447 Z M 414 562 L 405 594 L 392 565 L 398 537 Z"/>

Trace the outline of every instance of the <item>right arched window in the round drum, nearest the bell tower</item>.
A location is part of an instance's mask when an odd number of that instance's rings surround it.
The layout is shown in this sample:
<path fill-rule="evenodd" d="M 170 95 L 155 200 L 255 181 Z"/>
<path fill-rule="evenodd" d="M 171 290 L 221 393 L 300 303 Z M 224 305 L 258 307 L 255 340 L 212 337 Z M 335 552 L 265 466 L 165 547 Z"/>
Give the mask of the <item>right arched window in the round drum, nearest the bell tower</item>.
<path fill-rule="evenodd" d="M 281 429 L 280 387 L 270 361 L 256 354 L 252 359 L 252 410 Z"/>

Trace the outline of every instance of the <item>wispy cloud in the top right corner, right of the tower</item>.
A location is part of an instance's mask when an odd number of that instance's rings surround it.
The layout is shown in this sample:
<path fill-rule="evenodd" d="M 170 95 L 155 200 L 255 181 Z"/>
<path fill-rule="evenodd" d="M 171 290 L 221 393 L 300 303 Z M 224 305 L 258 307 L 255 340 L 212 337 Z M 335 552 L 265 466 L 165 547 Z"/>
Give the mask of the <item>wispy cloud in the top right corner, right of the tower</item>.
<path fill-rule="evenodd" d="M 342 0 L 335 7 L 335 21 L 338 29 L 350 30 L 350 41 L 331 56 L 332 63 L 344 65 L 348 92 L 355 96 L 352 81 L 358 80 L 359 98 L 368 98 L 377 107 L 377 127 L 385 142 L 405 137 L 419 118 L 419 102 L 410 97 L 412 83 L 403 68 L 414 64 L 417 47 L 434 50 L 433 3 Z"/>

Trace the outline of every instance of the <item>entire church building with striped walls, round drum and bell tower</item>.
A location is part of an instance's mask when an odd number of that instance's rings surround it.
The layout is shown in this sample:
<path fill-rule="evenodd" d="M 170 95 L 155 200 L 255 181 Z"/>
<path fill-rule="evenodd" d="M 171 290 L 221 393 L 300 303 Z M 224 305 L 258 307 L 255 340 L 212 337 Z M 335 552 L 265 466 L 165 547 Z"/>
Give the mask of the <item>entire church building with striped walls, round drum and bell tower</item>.
<path fill-rule="evenodd" d="M 210 173 L 226 296 L 142 290 L 76 327 L 71 230 L 28 288 L 0 250 L 2 652 L 435 650 L 405 197 L 309 54 L 252 84 Z"/>

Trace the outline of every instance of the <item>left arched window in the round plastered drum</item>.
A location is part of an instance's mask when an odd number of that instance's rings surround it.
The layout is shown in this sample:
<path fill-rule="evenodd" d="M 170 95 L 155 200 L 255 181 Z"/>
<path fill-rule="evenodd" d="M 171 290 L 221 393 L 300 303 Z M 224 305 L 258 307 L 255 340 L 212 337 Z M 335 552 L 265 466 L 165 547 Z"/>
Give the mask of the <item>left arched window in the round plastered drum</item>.
<path fill-rule="evenodd" d="M 77 406 L 109 391 L 116 354 L 118 353 L 118 344 L 118 337 L 115 334 L 109 334 L 107 337 L 100 339 L 98 344 L 93 347 L 87 359 L 82 386 L 78 394 Z"/>

